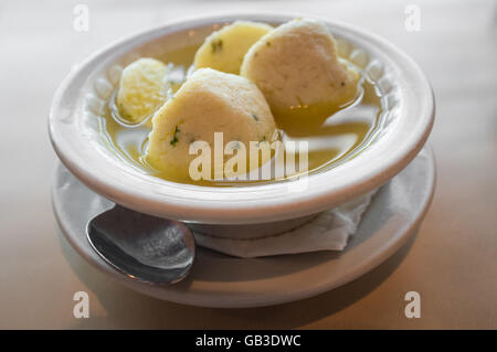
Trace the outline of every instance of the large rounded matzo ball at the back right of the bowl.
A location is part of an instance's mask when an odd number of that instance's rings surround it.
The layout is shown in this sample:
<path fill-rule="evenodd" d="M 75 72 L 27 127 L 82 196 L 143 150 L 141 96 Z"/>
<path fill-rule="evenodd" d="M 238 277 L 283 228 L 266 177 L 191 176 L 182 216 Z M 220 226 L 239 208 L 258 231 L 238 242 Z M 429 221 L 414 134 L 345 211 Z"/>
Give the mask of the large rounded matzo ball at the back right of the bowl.
<path fill-rule="evenodd" d="M 263 92 L 278 121 L 331 115 L 355 98 L 359 78 L 338 58 L 328 29 L 311 19 L 293 20 L 263 36 L 246 53 L 241 75 Z"/>

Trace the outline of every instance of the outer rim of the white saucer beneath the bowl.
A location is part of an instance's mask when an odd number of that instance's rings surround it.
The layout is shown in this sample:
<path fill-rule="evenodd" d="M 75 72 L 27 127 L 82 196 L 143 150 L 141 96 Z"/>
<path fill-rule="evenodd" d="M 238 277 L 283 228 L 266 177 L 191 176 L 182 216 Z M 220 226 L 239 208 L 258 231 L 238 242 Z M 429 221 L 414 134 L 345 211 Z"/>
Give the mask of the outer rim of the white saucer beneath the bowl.
<path fill-rule="evenodd" d="M 109 275 L 114 280 L 117 282 L 124 284 L 126 287 L 141 292 L 147 296 L 155 297 L 157 299 L 167 300 L 176 303 L 182 303 L 182 305 L 189 305 L 189 306 L 197 306 L 197 307 L 210 307 L 210 308 L 253 308 L 253 307 L 266 307 L 266 306 L 274 306 L 274 305 L 281 305 L 286 303 L 295 300 L 300 300 L 309 297 L 317 296 L 319 294 L 332 290 L 337 287 L 340 287 L 342 285 L 346 285 L 368 271 L 372 270 L 377 266 L 379 266 L 381 263 L 383 263 L 385 259 L 388 259 L 390 256 L 392 256 L 395 252 L 398 252 L 415 233 L 419 228 L 419 225 L 421 221 L 426 215 L 426 212 L 430 207 L 430 204 L 433 200 L 434 191 L 435 191 L 435 183 L 436 183 L 436 166 L 435 166 L 435 158 L 434 153 L 431 147 L 425 147 L 423 150 L 426 151 L 427 162 L 425 163 L 427 169 L 427 180 L 426 184 L 429 185 L 429 191 L 426 192 L 425 198 L 422 202 L 420 202 L 420 205 L 416 206 L 416 213 L 412 217 L 411 221 L 403 223 L 403 226 L 395 230 L 395 235 L 390 237 L 387 243 L 382 243 L 380 248 L 376 249 L 373 255 L 370 257 L 367 257 L 364 260 L 362 260 L 358 266 L 353 267 L 351 270 L 349 270 L 346 275 L 340 277 L 339 279 L 331 280 L 329 282 L 324 282 L 321 285 L 316 285 L 310 288 L 302 288 L 294 291 L 287 291 L 285 295 L 279 296 L 261 296 L 258 295 L 255 299 L 247 299 L 244 298 L 243 300 L 237 300 L 235 297 L 230 300 L 225 300 L 226 292 L 213 292 L 213 291 L 197 291 L 197 292 L 188 292 L 184 290 L 177 290 L 175 289 L 175 286 L 171 287 L 157 287 L 151 286 L 149 284 L 139 282 L 136 280 L 133 280 L 115 269 L 113 269 L 108 264 L 101 259 L 96 259 L 96 254 L 93 254 L 95 257 L 92 257 L 91 253 L 87 253 L 84 247 L 80 246 L 75 238 L 77 235 L 70 234 L 70 230 L 67 226 L 67 221 L 64 221 L 61 218 L 61 213 L 59 211 L 59 207 L 61 206 L 60 202 L 61 200 L 56 196 L 57 190 L 55 188 L 56 177 L 62 170 L 62 164 L 59 162 L 57 167 L 55 169 L 54 178 L 52 179 L 52 188 L 51 188 L 51 196 L 52 196 L 52 207 L 54 212 L 55 220 L 59 224 L 59 228 L 61 233 L 64 235 L 64 237 L 67 239 L 67 242 L 71 244 L 73 249 L 81 255 L 85 262 L 91 264 L 93 267 L 97 268 L 101 273 Z M 72 175 L 74 177 L 74 175 Z M 82 184 L 85 186 L 84 184 Z M 101 196 L 96 194 L 96 196 Z M 374 236 L 374 235 L 372 235 Z M 347 250 L 347 249 L 345 249 Z M 200 253 L 200 250 L 199 250 Z M 265 257 L 267 258 L 267 257 Z M 278 259 L 278 256 L 272 257 L 274 259 Z M 241 258 L 236 258 L 241 259 Z M 257 259 L 257 258 L 255 258 Z M 241 259 L 244 260 L 244 259 Z M 275 278 L 269 278 L 271 280 L 275 280 Z M 171 289 L 172 288 L 172 289 Z M 208 294 L 205 296 L 205 294 Z M 220 297 L 215 298 L 216 295 L 221 295 Z M 221 298 L 221 299 L 220 299 Z"/>

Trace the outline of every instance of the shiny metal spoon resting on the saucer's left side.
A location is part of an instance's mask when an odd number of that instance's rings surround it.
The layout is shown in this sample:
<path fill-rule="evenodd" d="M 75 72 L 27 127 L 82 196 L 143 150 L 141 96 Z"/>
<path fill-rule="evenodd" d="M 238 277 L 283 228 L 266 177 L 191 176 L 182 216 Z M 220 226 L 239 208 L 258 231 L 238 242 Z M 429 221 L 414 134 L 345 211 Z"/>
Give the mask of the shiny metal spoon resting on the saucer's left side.
<path fill-rule="evenodd" d="M 194 238 L 187 225 L 117 204 L 88 222 L 86 237 L 108 264 L 152 285 L 180 281 L 195 256 Z"/>

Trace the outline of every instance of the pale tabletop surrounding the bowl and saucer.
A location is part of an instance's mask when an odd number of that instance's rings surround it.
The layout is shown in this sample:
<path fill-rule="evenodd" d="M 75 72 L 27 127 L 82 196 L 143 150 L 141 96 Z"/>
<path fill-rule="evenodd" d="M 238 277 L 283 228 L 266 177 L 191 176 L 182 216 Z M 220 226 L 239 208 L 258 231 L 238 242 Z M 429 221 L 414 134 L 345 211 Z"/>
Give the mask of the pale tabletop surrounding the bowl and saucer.
<path fill-rule="evenodd" d="M 89 10 L 88 31 L 74 29 L 77 3 Z M 76 255 L 52 214 L 46 118 L 55 88 L 124 35 L 186 15 L 262 9 L 361 25 L 425 71 L 437 104 L 437 183 L 417 235 L 349 285 L 268 308 L 187 307 L 110 281 Z M 2 1 L 0 107 L 0 328 L 497 328 L 497 1 Z M 74 318 L 76 291 L 88 292 L 89 318 Z M 405 317 L 408 291 L 421 295 L 421 318 Z"/>

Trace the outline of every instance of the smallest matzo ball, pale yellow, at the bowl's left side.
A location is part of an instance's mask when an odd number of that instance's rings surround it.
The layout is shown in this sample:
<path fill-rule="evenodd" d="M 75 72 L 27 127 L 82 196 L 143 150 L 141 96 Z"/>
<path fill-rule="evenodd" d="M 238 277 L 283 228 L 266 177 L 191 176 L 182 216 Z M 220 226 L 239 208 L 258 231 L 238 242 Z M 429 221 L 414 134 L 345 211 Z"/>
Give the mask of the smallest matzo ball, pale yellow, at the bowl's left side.
<path fill-rule="evenodd" d="M 167 73 L 162 62 L 148 57 L 126 66 L 116 97 L 120 115 L 134 124 L 152 115 L 166 102 Z"/>

